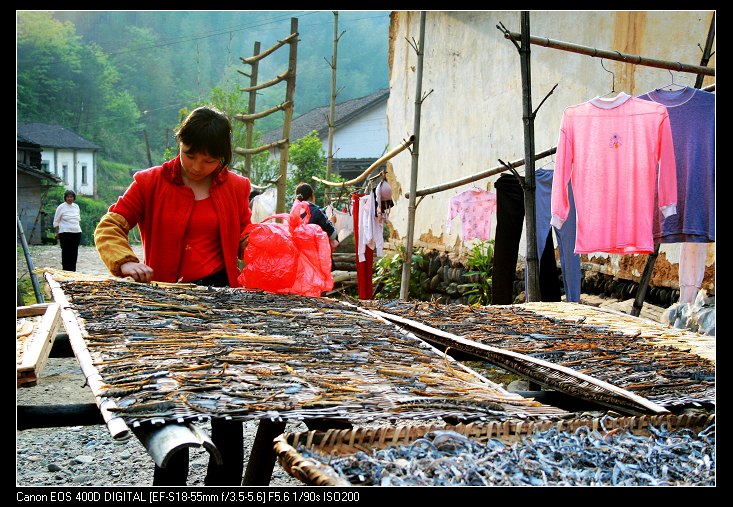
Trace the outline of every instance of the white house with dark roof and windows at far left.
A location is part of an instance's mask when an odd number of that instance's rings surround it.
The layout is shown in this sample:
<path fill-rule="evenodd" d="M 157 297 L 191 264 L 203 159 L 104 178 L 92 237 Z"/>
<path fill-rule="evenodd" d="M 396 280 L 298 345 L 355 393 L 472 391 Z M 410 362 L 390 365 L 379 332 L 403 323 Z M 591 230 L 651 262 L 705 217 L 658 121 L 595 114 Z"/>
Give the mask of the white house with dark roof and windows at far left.
<path fill-rule="evenodd" d="M 99 145 L 60 125 L 18 123 L 17 128 L 18 135 L 41 146 L 41 170 L 79 195 L 97 196 Z"/>

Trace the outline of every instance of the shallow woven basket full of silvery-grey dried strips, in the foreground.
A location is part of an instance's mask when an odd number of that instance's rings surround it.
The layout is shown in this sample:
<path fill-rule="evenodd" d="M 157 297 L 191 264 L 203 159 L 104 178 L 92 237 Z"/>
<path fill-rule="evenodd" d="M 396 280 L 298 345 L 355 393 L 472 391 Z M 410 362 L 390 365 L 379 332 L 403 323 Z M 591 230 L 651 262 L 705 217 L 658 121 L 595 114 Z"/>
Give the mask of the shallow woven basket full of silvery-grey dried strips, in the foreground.
<path fill-rule="evenodd" d="M 513 439 L 477 439 L 458 426 L 407 429 L 403 436 L 385 428 L 372 438 L 350 430 L 314 444 L 318 435 L 310 432 L 283 435 L 275 448 L 288 473 L 315 485 L 715 486 L 714 422 L 677 429 L 610 418 L 583 422 Z"/>

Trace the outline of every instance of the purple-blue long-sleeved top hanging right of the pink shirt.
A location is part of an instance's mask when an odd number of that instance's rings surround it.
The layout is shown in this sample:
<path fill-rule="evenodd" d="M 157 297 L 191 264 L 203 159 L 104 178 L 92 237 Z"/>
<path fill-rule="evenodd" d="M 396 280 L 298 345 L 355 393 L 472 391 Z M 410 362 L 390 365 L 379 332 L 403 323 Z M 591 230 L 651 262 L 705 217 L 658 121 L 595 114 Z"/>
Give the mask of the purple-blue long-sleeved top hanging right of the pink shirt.
<path fill-rule="evenodd" d="M 677 164 L 677 214 L 666 219 L 655 214 L 654 241 L 714 242 L 715 94 L 686 86 L 639 98 L 667 108 Z"/>

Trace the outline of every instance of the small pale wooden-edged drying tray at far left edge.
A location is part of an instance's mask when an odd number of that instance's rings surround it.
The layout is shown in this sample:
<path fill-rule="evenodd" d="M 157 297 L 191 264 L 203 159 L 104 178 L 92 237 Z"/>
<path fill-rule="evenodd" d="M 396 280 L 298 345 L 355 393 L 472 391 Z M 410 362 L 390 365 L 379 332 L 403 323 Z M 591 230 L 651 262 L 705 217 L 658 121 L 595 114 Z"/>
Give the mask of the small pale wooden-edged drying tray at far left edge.
<path fill-rule="evenodd" d="M 61 322 L 55 303 L 19 306 L 15 310 L 16 379 L 18 387 L 31 387 L 48 360 Z"/>

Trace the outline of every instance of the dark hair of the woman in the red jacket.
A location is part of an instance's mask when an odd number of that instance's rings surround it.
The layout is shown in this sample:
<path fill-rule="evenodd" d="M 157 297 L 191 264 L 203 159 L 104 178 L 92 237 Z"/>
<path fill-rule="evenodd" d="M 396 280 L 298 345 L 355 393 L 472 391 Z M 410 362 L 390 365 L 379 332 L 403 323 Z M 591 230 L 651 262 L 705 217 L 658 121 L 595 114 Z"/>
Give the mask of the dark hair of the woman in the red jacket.
<path fill-rule="evenodd" d="M 213 107 L 197 107 L 176 131 L 176 140 L 188 146 L 187 153 L 206 153 L 227 167 L 232 161 L 232 124 Z"/>

